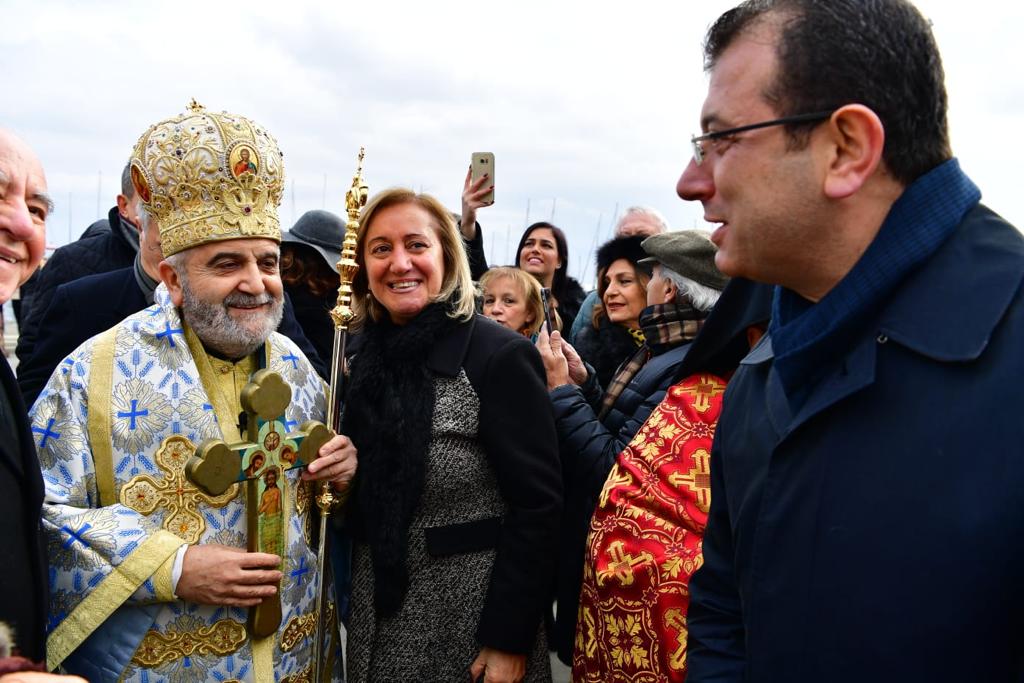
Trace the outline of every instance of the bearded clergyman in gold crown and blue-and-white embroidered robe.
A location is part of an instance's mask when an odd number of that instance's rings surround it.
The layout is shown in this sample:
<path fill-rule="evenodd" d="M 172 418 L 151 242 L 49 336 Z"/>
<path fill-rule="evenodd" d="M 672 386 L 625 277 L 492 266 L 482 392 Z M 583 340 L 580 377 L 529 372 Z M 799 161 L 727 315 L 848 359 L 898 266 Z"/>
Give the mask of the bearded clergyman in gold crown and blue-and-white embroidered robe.
<path fill-rule="evenodd" d="M 228 160 L 243 145 L 256 170 L 236 176 Z M 73 352 L 33 409 L 53 566 L 49 665 L 91 681 L 308 680 L 310 486 L 347 486 L 354 447 L 335 436 L 301 474 L 276 478 L 281 556 L 245 551 L 257 502 L 244 485 L 211 495 L 184 471 L 204 439 L 243 441 L 240 394 L 259 369 L 291 389 L 286 429 L 324 418 L 319 378 L 273 332 L 281 152 L 253 121 L 193 102 L 142 135 L 131 172 L 166 256 L 155 303 Z M 261 637 L 244 608 L 271 596 L 280 628 Z"/>

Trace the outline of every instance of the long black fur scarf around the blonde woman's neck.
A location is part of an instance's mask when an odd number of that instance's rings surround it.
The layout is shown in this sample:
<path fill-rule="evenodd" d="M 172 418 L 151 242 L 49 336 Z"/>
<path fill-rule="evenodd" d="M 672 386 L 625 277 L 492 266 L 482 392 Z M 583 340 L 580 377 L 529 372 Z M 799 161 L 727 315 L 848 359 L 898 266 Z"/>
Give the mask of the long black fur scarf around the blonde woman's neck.
<path fill-rule="evenodd" d="M 423 496 L 434 418 L 434 377 L 427 357 L 457 323 L 431 304 L 407 325 L 369 323 L 352 364 L 342 432 L 358 449 L 350 509 L 370 545 L 374 604 L 381 615 L 401 607 L 409 587 L 409 525 Z"/>

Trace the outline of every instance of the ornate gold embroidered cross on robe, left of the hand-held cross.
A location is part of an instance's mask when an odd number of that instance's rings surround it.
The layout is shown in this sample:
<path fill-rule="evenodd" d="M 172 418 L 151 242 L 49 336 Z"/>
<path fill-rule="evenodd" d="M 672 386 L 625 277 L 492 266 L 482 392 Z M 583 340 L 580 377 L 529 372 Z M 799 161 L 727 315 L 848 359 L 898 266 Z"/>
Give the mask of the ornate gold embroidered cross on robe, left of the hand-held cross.
<path fill-rule="evenodd" d="M 163 526 L 189 544 L 199 543 L 206 530 L 206 519 L 200 504 L 222 508 L 238 495 L 233 484 L 220 496 L 209 496 L 185 475 L 185 463 L 196 453 L 196 444 L 184 436 L 168 436 L 157 450 L 155 460 L 164 476 L 156 479 L 139 474 L 121 487 L 121 504 L 143 515 L 153 514 L 158 508 L 167 510 Z"/>

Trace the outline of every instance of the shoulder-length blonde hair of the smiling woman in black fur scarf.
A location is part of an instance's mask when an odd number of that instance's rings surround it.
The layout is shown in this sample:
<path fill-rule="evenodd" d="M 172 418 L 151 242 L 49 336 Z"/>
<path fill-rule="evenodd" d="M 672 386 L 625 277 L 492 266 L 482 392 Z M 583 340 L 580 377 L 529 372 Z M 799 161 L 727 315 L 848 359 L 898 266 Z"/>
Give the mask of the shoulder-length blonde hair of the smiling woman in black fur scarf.
<path fill-rule="evenodd" d="M 379 211 L 402 204 L 412 204 L 427 212 L 441 244 L 444 273 L 441 289 L 433 301 L 446 302 L 451 317 L 468 321 L 475 312 L 475 290 L 462 236 L 452 214 L 430 195 L 417 195 L 407 187 L 392 187 L 372 197 L 359 214 L 359 231 L 355 245 L 355 262 L 359 264 L 359 269 L 352 281 L 352 310 L 355 313 L 352 327 L 357 329 L 368 317 L 376 322 L 387 315 L 387 309 L 370 292 L 365 258 L 367 233 Z"/>

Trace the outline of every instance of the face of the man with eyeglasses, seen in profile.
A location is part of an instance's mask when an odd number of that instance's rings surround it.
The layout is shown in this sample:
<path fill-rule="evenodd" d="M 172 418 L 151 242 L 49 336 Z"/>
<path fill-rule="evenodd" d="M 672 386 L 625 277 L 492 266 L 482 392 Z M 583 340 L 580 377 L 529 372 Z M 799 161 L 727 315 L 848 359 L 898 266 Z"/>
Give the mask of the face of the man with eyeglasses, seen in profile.
<path fill-rule="evenodd" d="M 781 116 L 763 95 L 774 82 L 777 34 L 776 22 L 764 19 L 722 52 L 701 111 L 706 132 Z M 812 147 L 791 148 L 784 127 L 772 126 L 709 140 L 703 163 L 689 162 L 676 190 L 719 223 L 712 241 L 722 272 L 785 285 L 806 270 L 801 257 L 828 224 Z"/>

